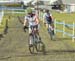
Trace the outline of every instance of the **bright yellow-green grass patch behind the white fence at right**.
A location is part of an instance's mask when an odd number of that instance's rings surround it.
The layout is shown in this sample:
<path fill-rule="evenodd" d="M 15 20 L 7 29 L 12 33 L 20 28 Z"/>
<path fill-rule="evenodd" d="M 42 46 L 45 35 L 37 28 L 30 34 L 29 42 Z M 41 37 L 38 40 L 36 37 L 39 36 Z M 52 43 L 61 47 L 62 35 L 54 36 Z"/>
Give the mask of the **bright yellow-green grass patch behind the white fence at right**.
<path fill-rule="evenodd" d="M 75 13 L 58 13 L 53 12 L 53 17 L 59 21 L 65 21 L 66 23 L 75 22 Z"/>

